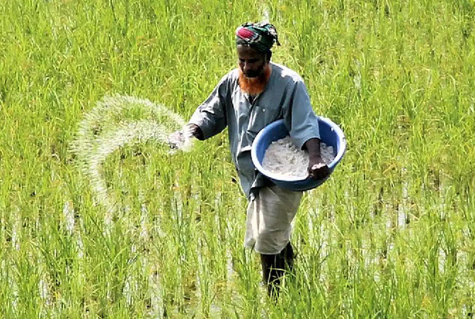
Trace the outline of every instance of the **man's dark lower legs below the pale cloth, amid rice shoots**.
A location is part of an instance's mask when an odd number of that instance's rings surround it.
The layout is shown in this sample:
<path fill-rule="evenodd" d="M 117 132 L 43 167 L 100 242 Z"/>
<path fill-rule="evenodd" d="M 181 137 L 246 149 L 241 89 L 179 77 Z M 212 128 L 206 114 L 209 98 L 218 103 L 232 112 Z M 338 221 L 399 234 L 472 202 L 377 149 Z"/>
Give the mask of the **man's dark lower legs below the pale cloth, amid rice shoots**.
<path fill-rule="evenodd" d="M 262 280 L 267 285 L 267 294 L 271 298 L 279 295 L 281 277 L 294 267 L 294 249 L 289 242 L 277 255 L 261 254 Z"/>

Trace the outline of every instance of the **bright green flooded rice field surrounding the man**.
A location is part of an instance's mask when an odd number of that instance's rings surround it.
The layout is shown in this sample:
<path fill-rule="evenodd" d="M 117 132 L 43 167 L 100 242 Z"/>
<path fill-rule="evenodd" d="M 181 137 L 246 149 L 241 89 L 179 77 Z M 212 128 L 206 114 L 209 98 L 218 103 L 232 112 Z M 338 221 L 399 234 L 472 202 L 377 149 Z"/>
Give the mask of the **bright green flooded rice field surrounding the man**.
<path fill-rule="evenodd" d="M 236 27 L 266 17 L 272 60 L 348 141 L 303 198 L 275 305 L 225 133 L 114 151 L 110 220 L 71 152 L 103 96 L 188 119 L 236 66 Z M 474 21 L 473 0 L 1 1 L 0 317 L 472 318 Z"/>

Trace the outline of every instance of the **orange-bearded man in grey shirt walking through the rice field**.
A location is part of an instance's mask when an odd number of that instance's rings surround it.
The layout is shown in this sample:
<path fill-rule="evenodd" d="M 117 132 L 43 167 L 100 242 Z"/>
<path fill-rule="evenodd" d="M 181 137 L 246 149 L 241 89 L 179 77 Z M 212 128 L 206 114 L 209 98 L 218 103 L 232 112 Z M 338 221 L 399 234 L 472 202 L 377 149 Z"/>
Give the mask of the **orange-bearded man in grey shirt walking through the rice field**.
<path fill-rule="evenodd" d="M 273 185 L 251 160 L 251 144 L 268 124 L 284 119 L 297 148 L 309 153 L 308 173 L 322 179 L 328 167 L 320 156 L 320 135 L 305 84 L 293 70 L 270 62 L 277 32 L 268 23 L 245 23 L 236 30 L 239 67 L 226 74 L 192 115 L 186 130 L 205 140 L 228 127 L 233 163 L 248 198 L 244 246 L 261 255 L 269 296 L 278 293 L 280 277 L 291 270 L 294 251 L 291 222 L 301 191 Z"/>

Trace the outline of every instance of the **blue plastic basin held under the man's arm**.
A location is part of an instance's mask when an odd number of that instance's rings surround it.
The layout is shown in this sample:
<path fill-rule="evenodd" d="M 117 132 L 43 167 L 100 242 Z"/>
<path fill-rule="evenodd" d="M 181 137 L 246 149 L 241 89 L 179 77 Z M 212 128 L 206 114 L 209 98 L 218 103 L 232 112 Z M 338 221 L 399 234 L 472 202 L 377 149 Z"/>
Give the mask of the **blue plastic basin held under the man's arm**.
<path fill-rule="evenodd" d="M 335 166 L 340 162 L 345 154 L 346 139 L 343 131 L 338 127 L 338 125 L 327 118 L 321 116 L 317 118 L 321 141 L 327 145 L 333 146 L 333 151 L 336 150 L 335 159 L 328 165 L 331 174 L 335 169 Z M 264 159 L 269 144 L 273 141 L 284 138 L 287 135 L 289 135 L 289 131 L 285 127 L 283 120 L 275 121 L 263 128 L 257 134 L 252 143 L 251 158 L 254 166 L 273 183 L 287 190 L 308 191 L 322 185 L 328 179 L 329 175 L 322 180 L 314 180 L 310 177 L 307 177 L 306 179 L 295 179 L 295 177 L 284 179 L 283 177 L 276 176 L 274 173 L 265 170 L 262 167 L 262 160 Z"/>

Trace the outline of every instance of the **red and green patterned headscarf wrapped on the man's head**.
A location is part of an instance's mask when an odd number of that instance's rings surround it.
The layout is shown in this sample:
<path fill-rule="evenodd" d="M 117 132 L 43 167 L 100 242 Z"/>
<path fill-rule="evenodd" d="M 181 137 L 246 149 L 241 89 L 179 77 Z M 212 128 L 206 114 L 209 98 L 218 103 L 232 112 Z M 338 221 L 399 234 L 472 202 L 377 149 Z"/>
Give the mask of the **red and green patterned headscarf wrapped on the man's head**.
<path fill-rule="evenodd" d="M 248 45 L 257 51 L 267 52 L 274 42 L 280 45 L 277 31 L 270 23 L 244 23 L 236 29 L 236 45 Z"/>

